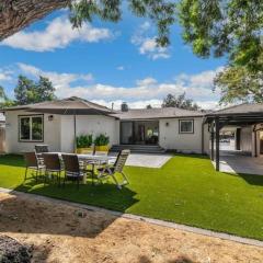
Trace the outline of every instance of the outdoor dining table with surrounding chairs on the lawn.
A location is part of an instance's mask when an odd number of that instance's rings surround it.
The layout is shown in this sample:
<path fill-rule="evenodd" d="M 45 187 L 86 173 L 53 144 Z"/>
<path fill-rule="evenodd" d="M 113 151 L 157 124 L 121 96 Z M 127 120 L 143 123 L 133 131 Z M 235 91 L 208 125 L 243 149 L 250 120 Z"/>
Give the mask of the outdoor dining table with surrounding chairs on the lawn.
<path fill-rule="evenodd" d="M 128 179 L 123 169 L 129 156 L 129 150 L 122 150 L 117 157 L 107 153 L 91 152 L 87 155 L 49 152 L 47 145 L 36 145 L 35 151 L 25 152 L 24 181 L 32 176 L 38 182 L 44 179 L 44 184 L 55 180 L 58 186 L 66 185 L 67 181 L 75 182 L 79 188 L 80 183 L 85 184 L 90 175 L 92 184 L 102 183 L 113 179 L 118 188 L 128 184 Z M 28 178 L 31 171 L 32 176 Z M 122 176 L 119 182 L 119 176 Z"/>

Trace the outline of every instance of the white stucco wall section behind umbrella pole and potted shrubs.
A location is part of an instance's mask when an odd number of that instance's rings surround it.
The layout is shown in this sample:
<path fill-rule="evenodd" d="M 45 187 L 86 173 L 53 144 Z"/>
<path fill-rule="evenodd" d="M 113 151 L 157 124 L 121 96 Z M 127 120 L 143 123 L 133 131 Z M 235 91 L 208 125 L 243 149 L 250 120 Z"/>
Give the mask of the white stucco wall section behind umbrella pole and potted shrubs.
<path fill-rule="evenodd" d="M 105 134 L 112 146 L 119 144 L 119 122 L 103 115 L 79 115 L 76 116 L 76 134 L 92 134 L 93 139 Z M 61 151 L 73 151 L 73 116 L 61 116 Z"/>

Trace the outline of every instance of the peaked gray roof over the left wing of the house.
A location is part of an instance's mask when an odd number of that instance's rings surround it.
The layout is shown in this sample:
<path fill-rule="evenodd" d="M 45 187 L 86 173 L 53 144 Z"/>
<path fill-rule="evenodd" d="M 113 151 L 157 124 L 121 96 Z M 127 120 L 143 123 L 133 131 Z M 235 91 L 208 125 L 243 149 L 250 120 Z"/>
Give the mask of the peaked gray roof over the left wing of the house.
<path fill-rule="evenodd" d="M 16 111 L 26 110 L 28 112 L 54 113 L 54 114 L 113 114 L 114 112 L 96 103 L 71 96 L 64 100 L 42 102 L 30 105 L 13 106 L 2 110 Z"/>

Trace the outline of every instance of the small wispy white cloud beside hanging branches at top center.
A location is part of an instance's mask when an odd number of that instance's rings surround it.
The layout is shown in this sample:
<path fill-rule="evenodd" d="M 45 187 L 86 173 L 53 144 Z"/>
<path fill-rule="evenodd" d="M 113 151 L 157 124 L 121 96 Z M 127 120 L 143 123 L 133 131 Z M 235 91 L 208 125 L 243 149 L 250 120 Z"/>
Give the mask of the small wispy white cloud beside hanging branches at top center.
<path fill-rule="evenodd" d="M 150 23 L 145 22 L 133 35 L 132 43 L 138 47 L 139 54 L 146 55 L 152 60 L 170 58 L 168 48 L 158 46 L 156 37 L 149 36 L 150 28 Z"/>

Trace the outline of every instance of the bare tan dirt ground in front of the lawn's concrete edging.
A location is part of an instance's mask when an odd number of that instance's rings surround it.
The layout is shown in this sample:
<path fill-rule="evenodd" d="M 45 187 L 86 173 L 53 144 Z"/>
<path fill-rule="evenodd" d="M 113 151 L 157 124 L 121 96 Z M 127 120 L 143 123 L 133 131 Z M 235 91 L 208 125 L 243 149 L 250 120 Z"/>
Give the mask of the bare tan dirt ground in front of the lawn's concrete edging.
<path fill-rule="evenodd" d="M 32 262 L 263 262 L 263 248 L 73 206 L 0 194 L 0 235 L 33 245 Z"/>

